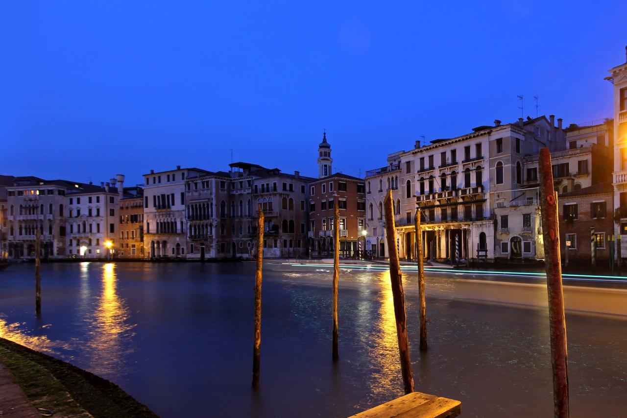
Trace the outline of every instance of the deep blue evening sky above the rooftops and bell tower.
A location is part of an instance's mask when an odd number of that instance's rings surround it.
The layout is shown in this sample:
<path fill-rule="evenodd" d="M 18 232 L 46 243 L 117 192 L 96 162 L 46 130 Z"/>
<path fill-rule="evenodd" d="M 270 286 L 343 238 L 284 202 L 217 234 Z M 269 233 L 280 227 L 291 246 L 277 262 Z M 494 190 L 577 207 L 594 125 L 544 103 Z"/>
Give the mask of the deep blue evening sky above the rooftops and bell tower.
<path fill-rule="evenodd" d="M 418 4 L 424 3 L 424 4 Z M 450 4 L 450 2 L 448 3 Z M 247 161 L 334 171 L 524 112 L 611 116 L 627 2 L 5 2 L 0 174 L 127 185 Z"/>

